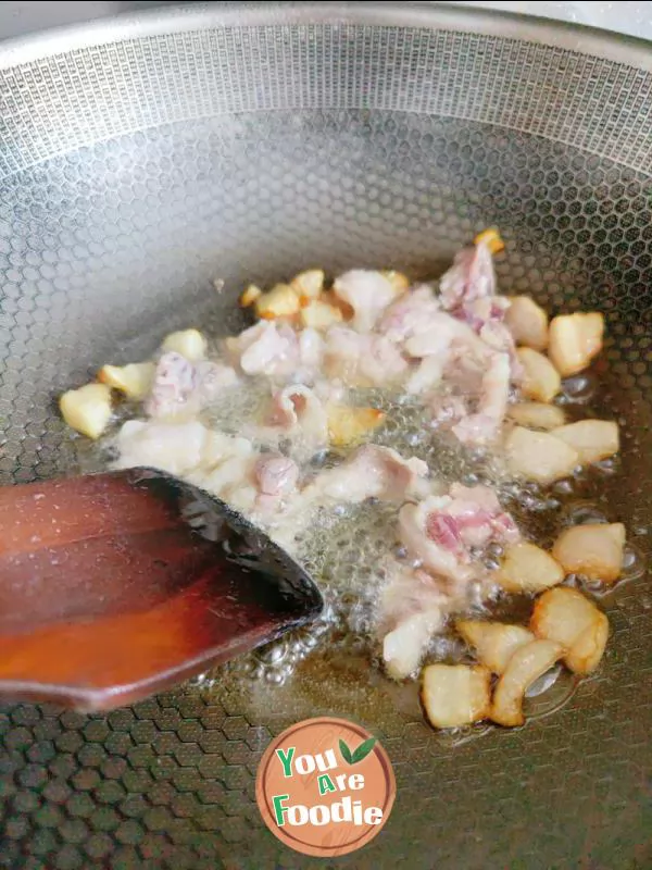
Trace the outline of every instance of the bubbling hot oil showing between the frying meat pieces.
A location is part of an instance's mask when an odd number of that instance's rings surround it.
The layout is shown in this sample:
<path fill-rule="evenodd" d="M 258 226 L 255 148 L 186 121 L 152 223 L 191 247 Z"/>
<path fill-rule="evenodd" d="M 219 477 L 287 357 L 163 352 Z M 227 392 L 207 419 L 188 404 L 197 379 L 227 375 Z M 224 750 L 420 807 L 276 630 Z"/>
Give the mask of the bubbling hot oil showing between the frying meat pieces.
<path fill-rule="evenodd" d="M 557 401 L 569 420 L 589 415 L 597 399 L 598 383 L 593 374 L 582 374 L 563 384 Z M 226 390 L 217 402 L 202 413 L 202 422 L 229 435 L 244 435 L 256 444 L 254 433 L 264 422 L 272 396 L 265 378 L 249 378 L 238 389 Z M 506 473 L 499 455 L 488 450 L 466 449 L 451 434 L 435 430 L 430 413 L 415 397 L 384 389 L 350 390 L 351 405 L 372 407 L 385 413 L 383 425 L 373 433 L 373 443 L 390 447 L 405 458 L 417 457 L 430 470 L 434 482 L 447 486 L 460 482 L 467 486 L 486 484 L 496 489 L 505 510 L 510 511 L 523 533 L 540 546 L 550 547 L 562 526 L 577 522 L 605 522 L 609 506 L 604 487 L 617 473 L 618 460 L 597 463 L 590 470 L 559 481 L 549 489 L 527 482 L 516 482 Z M 598 402 L 599 403 L 599 402 Z M 98 446 L 77 439 L 77 464 L 82 471 L 100 471 L 110 458 L 111 439 L 124 420 L 138 417 L 137 408 L 125 403 L 117 412 L 109 436 Z M 595 413 L 600 417 L 600 413 Z M 283 447 L 283 445 L 281 445 Z M 109 451 L 109 452 L 108 452 Z M 324 451 L 303 462 L 303 481 L 325 468 L 346 459 L 347 450 Z M 315 580 L 325 600 L 323 613 L 310 626 L 288 633 L 248 656 L 221 666 L 193 683 L 202 688 L 227 681 L 250 681 L 258 685 L 279 686 L 287 683 L 310 656 L 317 672 L 324 661 L 363 660 L 380 664 L 380 649 L 375 634 L 375 614 L 388 571 L 396 560 L 405 558 L 397 535 L 398 506 L 367 500 L 363 505 L 341 504 L 321 507 L 310 523 L 292 540 L 293 557 Z M 285 542 L 284 542 L 285 545 Z M 488 568 L 497 567 L 500 548 L 487 554 Z M 628 545 L 624 579 L 640 576 L 644 558 L 636 546 Z M 581 576 L 568 577 L 589 595 L 602 595 Z M 472 596 L 473 613 L 488 610 L 494 619 L 527 623 L 532 599 L 527 596 L 499 597 L 487 601 Z M 322 661 L 319 660 L 322 659 Z M 450 630 L 432 638 L 425 661 L 469 661 L 466 646 Z M 371 680 L 380 680 L 379 667 Z M 304 671 L 302 671 L 303 673 Z M 374 674 L 374 671 L 369 672 Z M 389 681 L 384 681 L 389 684 Z M 555 667 L 528 692 L 525 707 L 528 718 L 538 718 L 559 709 L 574 694 L 577 680 Z M 405 686 L 391 684 L 387 691 L 404 706 Z M 414 714 L 416 694 L 410 693 L 408 707 Z M 416 703 L 416 707 L 418 704 Z M 479 736 L 487 725 L 455 730 L 442 737 L 454 744 Z"/>

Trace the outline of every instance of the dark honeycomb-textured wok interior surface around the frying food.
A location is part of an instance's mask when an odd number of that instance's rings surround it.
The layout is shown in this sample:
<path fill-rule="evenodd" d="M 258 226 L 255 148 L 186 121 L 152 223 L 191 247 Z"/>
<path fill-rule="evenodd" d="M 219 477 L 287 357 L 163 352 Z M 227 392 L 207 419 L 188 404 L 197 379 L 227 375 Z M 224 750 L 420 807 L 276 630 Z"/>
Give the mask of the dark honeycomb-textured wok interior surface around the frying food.
<path fill-rule="evenodd" d="M 496 224 L 503 291 L 606 315 L 592 407 L 626 423 L 602 508 L 645 558 L 652 138 L 623 82 L 642 92 L 647 74 L 463 33 L 469 23 L 438 28 L 432 12 L 421 27 L 136 28 L 2 71 L 2 482 L 75 471 L 57 394 L 147 357 L 173 327 L 233 332 L 248 282 L 311 265 L 431 276 Z M 590 75 L 603 96 L 612 82 L 610 100 L 582 99 Z M 7 705 L 7 855 L 39 848 L 62 868 L 280 860 L 255 808 L 256 759 L 269 733 L 335 712 L 383 735 L 399 795 L 383 836 L 341 863 L 644 861 L 650 600 L 639 576 L 605 601 L 614 637 L 572 705 L 457 746 L 422 723 L 412 695 L 369 682 L 366 659 L 327 651 L 290 686 L 223 675 L 105 719 Z"/>

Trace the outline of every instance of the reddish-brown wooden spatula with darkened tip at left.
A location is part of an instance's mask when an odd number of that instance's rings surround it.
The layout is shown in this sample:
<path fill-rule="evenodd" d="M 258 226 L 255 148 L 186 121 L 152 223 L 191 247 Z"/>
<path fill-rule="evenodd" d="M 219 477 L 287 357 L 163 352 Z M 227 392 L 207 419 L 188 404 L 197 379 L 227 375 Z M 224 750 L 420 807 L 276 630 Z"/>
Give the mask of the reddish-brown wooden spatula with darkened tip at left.
<path fill-rule="evenodd" d="M 0 488 L 0 693 L 13 698 L 130 704 L 321 609 L 266 535 L 160 472 Z"/>

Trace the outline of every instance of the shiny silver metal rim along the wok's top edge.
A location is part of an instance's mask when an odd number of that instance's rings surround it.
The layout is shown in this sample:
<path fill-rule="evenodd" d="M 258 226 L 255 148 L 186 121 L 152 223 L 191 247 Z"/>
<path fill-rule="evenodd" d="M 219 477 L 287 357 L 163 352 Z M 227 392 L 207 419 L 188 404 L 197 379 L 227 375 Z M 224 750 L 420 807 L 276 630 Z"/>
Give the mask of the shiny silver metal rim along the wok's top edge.
<path fill-rule="evenodd" d="M 0 70 L 133 39 L 210 28 L 358 25 L 455 30 L 523 40 L 652 72 L 652 41 L 537 15 L 423 2 L 217 2 L 127 12 L 0 42 Z"/>

